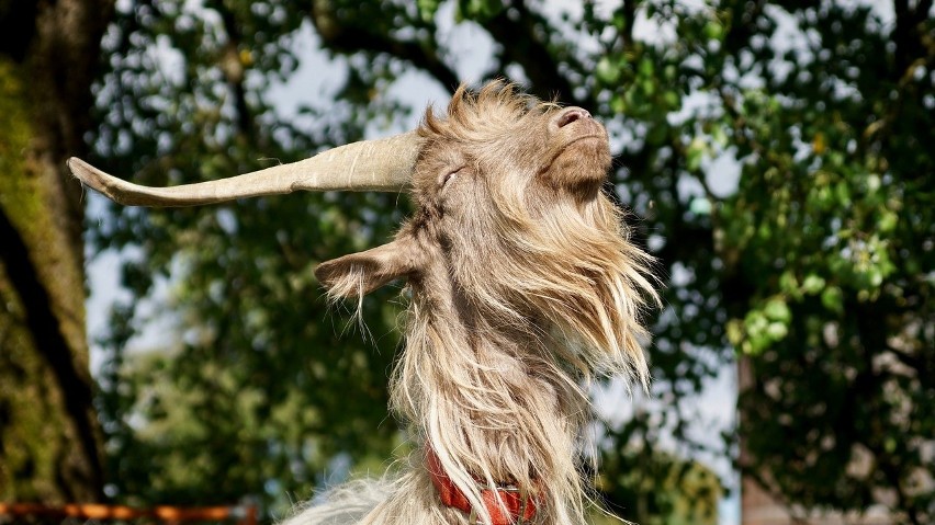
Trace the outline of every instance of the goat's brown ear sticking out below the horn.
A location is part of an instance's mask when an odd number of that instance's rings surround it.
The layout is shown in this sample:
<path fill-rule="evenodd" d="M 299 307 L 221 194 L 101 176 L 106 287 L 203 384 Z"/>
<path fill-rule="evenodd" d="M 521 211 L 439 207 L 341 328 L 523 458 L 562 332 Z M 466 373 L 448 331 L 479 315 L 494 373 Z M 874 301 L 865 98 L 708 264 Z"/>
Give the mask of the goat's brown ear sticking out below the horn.
<path fill-rule="evenodd" d="M 362 297 L 414 273 L 418 259 L 416 242 L 403 236 L 382 247 L 325 261 L 315 269 L 315 276 L 331 297 Z"/>

